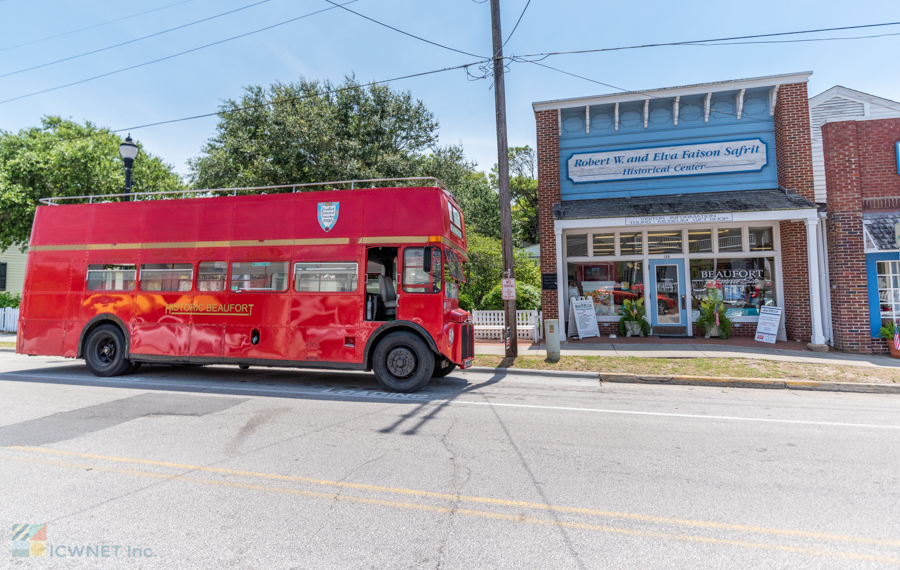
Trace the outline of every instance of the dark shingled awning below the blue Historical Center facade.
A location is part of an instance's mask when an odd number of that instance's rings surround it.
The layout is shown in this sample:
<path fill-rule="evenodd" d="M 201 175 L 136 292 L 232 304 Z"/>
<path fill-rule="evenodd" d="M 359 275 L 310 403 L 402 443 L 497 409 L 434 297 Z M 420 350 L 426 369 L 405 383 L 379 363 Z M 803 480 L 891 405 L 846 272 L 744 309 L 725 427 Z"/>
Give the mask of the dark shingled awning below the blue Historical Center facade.
<path fill-rule="evenodd" d="M 768 190 L 572 200 L 554 204 L 553 217 L 557 220 L 578 220 L 724 212 L 776 212 L 810 208 L 818 209 L 818 205 L 802 196 L 789 193 L 783 188 L 771 188 Z M 892 240 L 893 235 L 893 226 L 891 226 Z"/>

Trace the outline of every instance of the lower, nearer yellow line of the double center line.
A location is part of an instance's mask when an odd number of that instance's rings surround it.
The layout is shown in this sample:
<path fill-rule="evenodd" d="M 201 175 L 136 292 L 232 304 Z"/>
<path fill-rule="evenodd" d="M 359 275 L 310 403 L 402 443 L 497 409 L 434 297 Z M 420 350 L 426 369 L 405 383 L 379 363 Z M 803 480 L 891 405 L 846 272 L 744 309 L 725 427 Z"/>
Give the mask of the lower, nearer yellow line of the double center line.
<path fill-rule="evenodd" d="M 17 449 L 15 447 L 10 449 Z M 78 454 L 73 454 L 78 455 Z M 439 507 L 435 505 L 422 505 L 417 503 L 401 503 L 397 501 L 385 501 L 381 499 L 370 499 L 366 497 L 355 497 L 352 495 L 338 495 L 330 493 L 316 493 L 311 491 L 300 491 L 297 489 L 286 489 L 283 487 L 270 487 L 267 485 L 251 485 L 248 483 L 236 483 L 232 481 L 213 481 L 210 479 L 197 479 L 194 477 L 184 477 L 181 475 L 165 475 L 163 473 L 152 473 L 148 471 L 135 471 L 133 469 L 118 469 L 115 467 L 98 467 L 94 465 L 85 465 L 79 463 L 68 463 L 64 461 L 54 461 L 51 459 L 38 459 L 33 457 L 15 457 L 11 455 L 0 455 L 0 459 L 8 459 L 11 461 L 21 461 L 26 463 L 41 463 L 44 465 L 56 465 L 61 467 L 72 467 L 76 469 L 92 469 L 97 471 L 106 471 L 112 473 L 123 473 L 127 475 L 135 475 L 140 477 L 150 477 L 154 479 L 167 479 L 171 481 L 182 481 L 186 483 L 197 483 L 202 485 L 212 485 L 218 487 L 230 487 L 235 489 L 247 489 L 253 491 L 264 491 L 269 493 L 280 493 L 285 495 L 295 495 L 301 497 L 312 497 L 318 499 L 329 499 L 345 501 L 349 503 L 359 503 L 366 505 L 378 505 L 383 507 L 394 507 L 400 509 L 410 509 L 418 511 L 427 511 L 443 514 L 457 514 L 471 517 L 488 518 L 495 520 L 503 520 L 510 522 L 521 522 L 543 526 L 555 526 L 563 528 L 571 528 L 578 530 L 586 530 L 593 532 L 602 532 L 607 534 L 618 534 L 623 536 L 636 536 L 643 538 L 660 538 L 665 540 L 679 540 L 687 542 L 697 542 L 704 544 L 714 544 L 720 546 L 737 546 L 742 548 L 772 550 L 777 552 L 787 552 L 792 554 L 805 554 L 809 556 L 823 556 L 829 558 L 841 558 L 846 560 L 865 560 L 869 562 L 887 563 L 900 565 L 900 558 L 890 556 L 880 556 L 874 554 L 858 554 L 855 552 L 840 552 L 834 550 L 819 550 L 815 548 L 805 548 L 798 546 L 784 546 L 780 544 L 766 544 L 759 542 L 748 542 L 743 540 L 729 540 L 721 538 L 711 538 L 706 536 L 696 536 L 689 534 L 673 534 L 666 532 L 654 532 L 645 530 L 633 530 L 626 528 L 618 528 L 605 525 L 595 525 L 587 523 L 576 523 L 568 521 L 557 521 L 552 519 L 539 519 L 533 517 L 525 517 L 521 515 L 509 515 L 503 513 L 493 513 L 488 511 L 476 511 L 472 509 L 458 509 L 452 507 Z"/>

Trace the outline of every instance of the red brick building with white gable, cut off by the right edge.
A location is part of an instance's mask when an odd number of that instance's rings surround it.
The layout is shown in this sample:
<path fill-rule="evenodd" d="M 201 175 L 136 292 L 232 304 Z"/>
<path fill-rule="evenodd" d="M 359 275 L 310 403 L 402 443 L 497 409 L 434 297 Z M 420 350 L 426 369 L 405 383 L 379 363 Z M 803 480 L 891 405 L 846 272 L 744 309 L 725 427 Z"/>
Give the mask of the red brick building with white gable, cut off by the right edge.
<path fill-rule="evenodd" d="M 887 352 L 876 337 L 883 320 L 900 319 L 900 103 L 842 87 L 826 94 L 856 104 L 821 121 L 834 346 Z"/>

